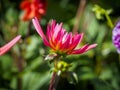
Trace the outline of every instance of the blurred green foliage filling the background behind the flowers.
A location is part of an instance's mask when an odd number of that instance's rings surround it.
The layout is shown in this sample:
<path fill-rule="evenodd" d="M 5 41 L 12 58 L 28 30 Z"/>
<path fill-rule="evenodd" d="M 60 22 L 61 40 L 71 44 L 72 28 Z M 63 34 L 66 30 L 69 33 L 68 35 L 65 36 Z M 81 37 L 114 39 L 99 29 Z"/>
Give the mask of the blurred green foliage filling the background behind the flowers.
<path fill-rule="evenodd" d="M 20 2 L 2 0 L 0 3 L 0 46 L 22 35 L 21 42 L 0 57 L 0 90 L 19 90 L 18 81 L 22 81 L 22 90 L 48 90 L 52 65 L 44 61 L 44 57 L 49 48 L 43 45 L 31 21 L 19 19 Z M 76 90 L 120 90 L 120 64 L 112 44 L 112 29 L 104 17 L 96 18 L 92 11 L 94 4 L 113 10 L 110 17 L 114 25 L 119 20 L 120 0 L 88 0 L 78 32 L 84 32 L 81 45 L 97 43 L 98 46 L 83 55 L 68 56 L 65 61 L 72 64 L 70 70 L 78 75 L 77 85 L 73 84 Z M 78 6 L 79 0 L 48 0 L 47 13 L 41 19 L 42 28 L 46 30 L 47 22 L 56 19 L 64 23 L 66 30 L 72 31 Z"/>

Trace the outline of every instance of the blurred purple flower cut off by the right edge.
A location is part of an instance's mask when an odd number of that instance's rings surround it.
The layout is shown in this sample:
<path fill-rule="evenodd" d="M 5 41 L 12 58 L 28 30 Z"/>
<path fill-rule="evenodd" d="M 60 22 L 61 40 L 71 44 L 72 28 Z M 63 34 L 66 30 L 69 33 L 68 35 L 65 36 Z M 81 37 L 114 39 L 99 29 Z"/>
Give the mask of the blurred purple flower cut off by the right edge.
<path fill-rule="evenodd" d="M 120 54 L 120 22 L 114 27 L 112 34 L 113 44 L 117 48 L 117 52 Z"/>

